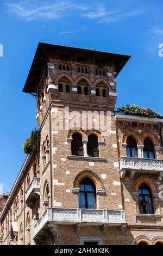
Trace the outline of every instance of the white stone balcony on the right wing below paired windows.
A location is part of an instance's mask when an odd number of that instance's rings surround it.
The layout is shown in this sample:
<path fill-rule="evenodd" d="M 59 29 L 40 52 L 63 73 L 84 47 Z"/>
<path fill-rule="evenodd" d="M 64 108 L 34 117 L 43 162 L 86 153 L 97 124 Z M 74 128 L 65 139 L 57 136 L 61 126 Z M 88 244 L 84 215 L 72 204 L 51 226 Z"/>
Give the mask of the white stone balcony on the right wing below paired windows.
<path fill-rule="evenodd" d="M 163 160 L 158 159 L 142 159 L 137 157 L 120 157 L 120 174 L 121 178 L 125 178 L 129 173 L 130 179 L 134 178 L 135 173 L 157 174 L 158 180 L 163 177 Z"/>

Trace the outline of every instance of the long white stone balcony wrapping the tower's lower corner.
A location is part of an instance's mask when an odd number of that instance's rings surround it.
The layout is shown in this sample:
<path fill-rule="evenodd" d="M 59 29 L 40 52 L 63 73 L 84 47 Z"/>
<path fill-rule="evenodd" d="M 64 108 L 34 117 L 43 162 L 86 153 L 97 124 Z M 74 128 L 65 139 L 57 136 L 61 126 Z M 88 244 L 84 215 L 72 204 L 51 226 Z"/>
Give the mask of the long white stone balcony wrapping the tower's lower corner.
<path fill-rule="evenodd" d="M 120 230 L 126 228 L 126 220 L 123 210 L 94 210 L 94 209 L 47 209 L 34 227 L 34 237 L 39 235 L 42 229 L 47 229 L 51 224 L 76 225 L 78 233 L 81 225 L 100 225 L 102 231 L 110 226 L 118 226 Z"/>

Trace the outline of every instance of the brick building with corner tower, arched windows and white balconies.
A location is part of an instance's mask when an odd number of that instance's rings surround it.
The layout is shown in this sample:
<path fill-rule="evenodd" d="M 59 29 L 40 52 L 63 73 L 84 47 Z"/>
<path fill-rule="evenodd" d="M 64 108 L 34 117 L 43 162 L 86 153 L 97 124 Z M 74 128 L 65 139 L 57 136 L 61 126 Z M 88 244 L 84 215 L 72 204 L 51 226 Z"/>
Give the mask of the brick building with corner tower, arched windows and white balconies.
<path fill-rule="evenodd" d="M 129 58 L 38 45 L 23 92 L 37 97 L 40 156 L 27 156 L 4 206 L 4 245 L 163 244 L 163 119 L 114 111 Z M 92 130 L 78 118 L 68 129 L 83 111 Z M 110 113 L 109 135 L 95 112 Z"/>

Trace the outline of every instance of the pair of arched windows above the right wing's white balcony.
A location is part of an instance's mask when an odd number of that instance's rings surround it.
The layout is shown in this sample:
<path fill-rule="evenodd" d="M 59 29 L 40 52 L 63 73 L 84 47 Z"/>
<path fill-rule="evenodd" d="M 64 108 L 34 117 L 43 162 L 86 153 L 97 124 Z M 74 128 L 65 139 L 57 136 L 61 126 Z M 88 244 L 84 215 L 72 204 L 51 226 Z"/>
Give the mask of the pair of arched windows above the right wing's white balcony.
<path fill-rule="evenodd" d="M 126 154 L 129 157 L 137 157 L 137 144 L 132 136 L 127 138 Z M 154 159 L 154 147 L 150 138 L 146 137 L 144 140 L 143 158 Z"/>

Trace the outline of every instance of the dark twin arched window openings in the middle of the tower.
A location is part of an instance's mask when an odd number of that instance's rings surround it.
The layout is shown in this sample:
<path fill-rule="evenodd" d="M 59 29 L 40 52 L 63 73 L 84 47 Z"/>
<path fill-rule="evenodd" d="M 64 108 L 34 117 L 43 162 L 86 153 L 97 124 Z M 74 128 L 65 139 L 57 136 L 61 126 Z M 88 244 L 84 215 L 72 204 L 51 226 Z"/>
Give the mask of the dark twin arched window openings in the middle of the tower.
<path fill-rule="evenodd" d="M 79 133 L 74 133 L 72 135 L 71 151 L 72 155 L 84 155 L 82 136 Z M 98 139 L 95 135 L 89 135 L 88 137 L 87 155 L 92 157 L 99 157 Z"/>

